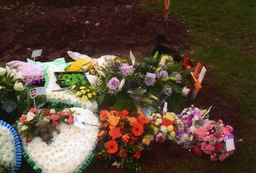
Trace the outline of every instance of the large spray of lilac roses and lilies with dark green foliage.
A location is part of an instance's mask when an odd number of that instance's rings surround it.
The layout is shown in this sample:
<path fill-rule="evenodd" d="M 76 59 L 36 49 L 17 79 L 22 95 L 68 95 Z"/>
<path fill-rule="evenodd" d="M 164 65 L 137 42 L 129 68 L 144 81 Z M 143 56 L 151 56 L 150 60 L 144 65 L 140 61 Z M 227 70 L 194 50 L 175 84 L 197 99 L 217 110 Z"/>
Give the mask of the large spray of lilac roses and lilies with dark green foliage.
<path fill-rule="evenodd" d="M 173 110 L 178 110 L 188 96 L 186 75 L 193 68 L 183 70 L 182 61 L 175 62 L 167 54 L 158 56 L 158 52 L 144 57 L 142 62 L 135 62 L 132 53 L 130 59 L 121 62 L 108 59 L 108 63 L 99 61 L 94 65 L 99 75 L 97 93 L 102 93 L 99 103 L 112 100 L 110 105 L 115 109 L 132 110 L 136 106 L 158 107 L 166 100 Z"/>

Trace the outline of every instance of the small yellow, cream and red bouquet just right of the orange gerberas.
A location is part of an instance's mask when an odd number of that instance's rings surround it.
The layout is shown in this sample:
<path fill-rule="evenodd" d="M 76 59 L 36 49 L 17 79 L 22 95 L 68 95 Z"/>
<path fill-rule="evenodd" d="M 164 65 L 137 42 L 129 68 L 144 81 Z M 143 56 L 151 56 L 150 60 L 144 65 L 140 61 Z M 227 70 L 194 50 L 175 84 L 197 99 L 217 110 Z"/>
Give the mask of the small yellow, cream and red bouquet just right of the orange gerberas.
<path fill-rule="evenodd" d="M 165 140 L 174 140 L 176 120 L 178 117 L 173 112 L 165 112 L 162 116 L 160 113 L 153 113 L 150 117 L 151 126 L 154 129 L 156 142 L 164 142 Z"/>

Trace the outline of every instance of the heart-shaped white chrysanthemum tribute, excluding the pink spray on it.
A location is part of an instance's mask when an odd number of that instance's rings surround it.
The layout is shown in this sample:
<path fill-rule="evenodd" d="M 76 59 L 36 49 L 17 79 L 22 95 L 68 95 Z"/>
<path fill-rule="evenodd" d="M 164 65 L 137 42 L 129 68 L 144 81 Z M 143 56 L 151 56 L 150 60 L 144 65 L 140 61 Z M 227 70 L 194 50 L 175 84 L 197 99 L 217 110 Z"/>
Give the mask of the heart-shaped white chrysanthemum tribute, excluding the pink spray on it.
<path fill-rule="evenodd" d="M 29 159 L 45 173 L 78 172 L 88 159 L 92 159 L 99 133 L 98 118 L 93 112 L 79 107 L 72 107 L 70 110 L 73 112 L 72 116 L 83 116 L 87 124 L 95 126 L 85 125 L 85 128 L 79 128 L 70 122 L 60 122 L 58 126 L 60 133 L 53 131 L 53 138 L 48 144 L 39 136 L 30 142 L 22 138 L 23 148 Z M 51 112 L 52 115 L 56 114 L 52 110 Z M 27 115 L 26 117 L 24 115 L 22 121 L 27 121 Z"/>

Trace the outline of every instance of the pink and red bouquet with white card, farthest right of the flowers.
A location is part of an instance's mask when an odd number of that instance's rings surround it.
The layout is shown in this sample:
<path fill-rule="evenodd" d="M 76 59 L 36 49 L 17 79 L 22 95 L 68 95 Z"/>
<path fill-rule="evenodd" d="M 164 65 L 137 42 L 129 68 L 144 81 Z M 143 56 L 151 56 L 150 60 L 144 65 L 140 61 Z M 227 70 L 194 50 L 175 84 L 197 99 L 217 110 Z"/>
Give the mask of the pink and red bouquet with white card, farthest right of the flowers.
<path fill-rule="evenodd" d="M 232 131 L 233 128 L 229 125 L 225 126 L 222 120 L 213 121 L 198 128 L 196 130 L 198 142 L 194 147 L 194 152 L 202 155 L 203 151 L 211 155 L 212 161 L 223 161 L 235 150 Z"/>

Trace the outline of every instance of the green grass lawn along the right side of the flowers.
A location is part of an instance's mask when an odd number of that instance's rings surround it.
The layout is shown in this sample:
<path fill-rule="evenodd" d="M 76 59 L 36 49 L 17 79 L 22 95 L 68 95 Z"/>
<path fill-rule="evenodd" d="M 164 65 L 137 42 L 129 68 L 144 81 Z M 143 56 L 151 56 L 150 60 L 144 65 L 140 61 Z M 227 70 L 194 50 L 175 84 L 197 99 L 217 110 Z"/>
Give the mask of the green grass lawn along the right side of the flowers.
<path fill-rule="evenodd" d="M 140 6 L 147 11 L 163 13 L 163 2 L 150 1 Z M 184 158 L 182 164 L 175 164 L 174 172 L 255 171 L 256 1 L 172 0 L 170 11 L 190 28 L 191 48 L 196 54 L 188 53 L 188 56 L 202 62 L 220 90 L 240 103 L 239 116 L 245 126 L 240 129 L 244 134 L 243 145 L 225 162 L 209 165 L 203 159 L 193 160 L 191 165 L 191 158 Z M 177 162 L 180 160 L 177 158 Z M 193 165 L 200 162 L 207 166 L 195 170 Z M 164 165 L 160 167 L 159 170 L 165 170 Z"/>

